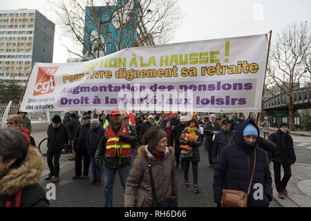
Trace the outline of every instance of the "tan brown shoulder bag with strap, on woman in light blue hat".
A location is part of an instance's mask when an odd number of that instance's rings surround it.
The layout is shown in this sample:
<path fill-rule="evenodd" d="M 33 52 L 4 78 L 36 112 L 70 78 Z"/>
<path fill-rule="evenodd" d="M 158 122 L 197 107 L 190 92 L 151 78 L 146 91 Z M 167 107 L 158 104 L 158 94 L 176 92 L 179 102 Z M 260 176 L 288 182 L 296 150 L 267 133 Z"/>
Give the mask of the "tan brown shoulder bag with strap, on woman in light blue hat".
<path fill-rule="evenodd" d="M 253 172 L 252 172 L 252 177 L 249 182 L 247 193 L 245 193 L 244 191 L 225 189 L 225 184 L 224 184 L 223 195 L 220 201 L 220 204 L 222 207 L 247 207 L 247 198 L 249 195 L 250 188 L 252 186 L 255 165 L 256 165 L 256 148 L 255 148 Z"/>

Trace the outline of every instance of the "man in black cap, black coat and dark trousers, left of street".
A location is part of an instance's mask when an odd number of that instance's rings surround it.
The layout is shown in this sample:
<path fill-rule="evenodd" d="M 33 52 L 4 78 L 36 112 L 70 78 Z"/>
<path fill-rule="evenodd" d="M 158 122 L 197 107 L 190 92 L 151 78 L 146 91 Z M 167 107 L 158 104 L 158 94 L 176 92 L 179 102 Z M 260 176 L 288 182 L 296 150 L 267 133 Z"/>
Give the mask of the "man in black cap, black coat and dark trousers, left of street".
<path fill-rule="evenodd" d="M 59 115 L 52 118 L 52 124 L 48 126 L 48 151 L 46 160 L 50 173 L 45 180 L 50 180 L 54 176 L 53 182 L 59 182 L 59 157 L 62 155 L 62 149 L 69 141 L 69 133 L 66 125 L 62 124 Z"/>

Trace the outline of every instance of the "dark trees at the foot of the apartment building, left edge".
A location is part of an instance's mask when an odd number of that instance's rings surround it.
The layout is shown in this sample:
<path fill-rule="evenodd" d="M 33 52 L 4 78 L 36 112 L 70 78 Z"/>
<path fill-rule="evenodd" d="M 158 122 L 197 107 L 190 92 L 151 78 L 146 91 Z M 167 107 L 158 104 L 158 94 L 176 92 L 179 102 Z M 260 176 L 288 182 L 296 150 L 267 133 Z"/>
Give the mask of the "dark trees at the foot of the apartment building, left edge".
<path fill-rule="evenodd" d="M 4 81 L 0 80 L 0 103 L 19 103 L 21 94 L 23 93 L 23 87 L 15 83 L 14 80 Z"/>

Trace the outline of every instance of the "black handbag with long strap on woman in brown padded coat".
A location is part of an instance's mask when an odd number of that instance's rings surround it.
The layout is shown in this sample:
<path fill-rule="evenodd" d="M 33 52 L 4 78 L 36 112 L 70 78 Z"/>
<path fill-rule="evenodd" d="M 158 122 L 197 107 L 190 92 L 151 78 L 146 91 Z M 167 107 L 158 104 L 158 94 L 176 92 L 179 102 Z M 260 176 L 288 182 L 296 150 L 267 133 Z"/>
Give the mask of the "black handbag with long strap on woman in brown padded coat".
<path fill-rule="evenodd" d="M 153 182 L 153 175 L 151 171 L 151 164 L 148 161 L 148 167 L 149 167 L 149 175 L 150 175 L 150 182 L 151 182 L 151 189 L 152 189 L 152 207 L 178 207 L 178 200 L 176 196 L 172 195 L 169 198 L 162 198 L 162 199 L 157 199 L 156 196 L 156 189 L 154 187 L 154 182 Z"/>

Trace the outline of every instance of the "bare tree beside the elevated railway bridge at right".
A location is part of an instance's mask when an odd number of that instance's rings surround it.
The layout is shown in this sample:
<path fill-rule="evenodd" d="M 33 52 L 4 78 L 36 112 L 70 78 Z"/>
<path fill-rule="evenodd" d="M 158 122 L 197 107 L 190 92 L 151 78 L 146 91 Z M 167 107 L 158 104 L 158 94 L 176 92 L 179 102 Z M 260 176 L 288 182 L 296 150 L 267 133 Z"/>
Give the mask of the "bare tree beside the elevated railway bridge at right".
<path fill-rule="evenodd" d="M 290 130 L 294 131 L 294 102 L 292 91 L 305 84 L 310 77 L 311 32 L 308 21 L 290 23 L 281 35 L 277 35 L 275 46 L 270 50 L 270 62 L 267 68 L 266 90 L 273 97 L 288 106 Z M 278 88 L 285 93 L 286 99 L 276 96 L 271 88 Z"/>

